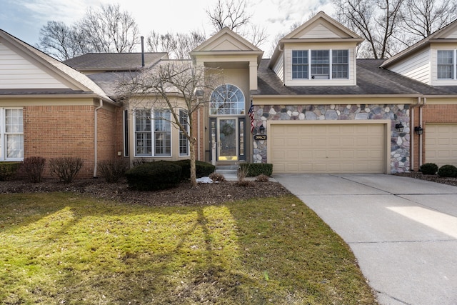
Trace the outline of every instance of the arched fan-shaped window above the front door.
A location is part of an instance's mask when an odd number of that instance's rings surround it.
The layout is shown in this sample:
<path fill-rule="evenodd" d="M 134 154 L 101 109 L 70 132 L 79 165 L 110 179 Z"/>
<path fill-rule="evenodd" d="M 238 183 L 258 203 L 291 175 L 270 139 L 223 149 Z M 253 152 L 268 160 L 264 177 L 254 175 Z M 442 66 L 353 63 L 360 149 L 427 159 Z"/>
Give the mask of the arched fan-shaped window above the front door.
<path fill-rule="evenodd" d="M 244 94 L 235 85 L 224 84 L 211 94 L 210 114 L 241 115 L 244 112 Z"/>

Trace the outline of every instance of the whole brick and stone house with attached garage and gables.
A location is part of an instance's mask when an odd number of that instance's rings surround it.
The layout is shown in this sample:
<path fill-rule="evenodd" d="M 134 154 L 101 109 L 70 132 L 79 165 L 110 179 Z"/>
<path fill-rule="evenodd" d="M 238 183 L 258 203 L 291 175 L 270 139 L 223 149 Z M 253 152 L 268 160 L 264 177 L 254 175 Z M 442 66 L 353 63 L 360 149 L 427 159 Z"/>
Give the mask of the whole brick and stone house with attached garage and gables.
<path fill-rule="evenodd" d="M 457 165 L 456 22 L 391 59 L 356 59 L 363 39 L 323 12 L 278 41 L 271 59 L 219 31 L 191 51 L 191 64 L 224 73 L 196 114 L 197 159 L 271 163 L 276 174 Z M 1 161 L 81 156 L 89 177 L 101 160 L 188 159 L 189 143 L 159 119 L 164 109 L 116 94 L 122 77 L 167 61 L 86 54 L 61 63 L 0 31 Z"/>

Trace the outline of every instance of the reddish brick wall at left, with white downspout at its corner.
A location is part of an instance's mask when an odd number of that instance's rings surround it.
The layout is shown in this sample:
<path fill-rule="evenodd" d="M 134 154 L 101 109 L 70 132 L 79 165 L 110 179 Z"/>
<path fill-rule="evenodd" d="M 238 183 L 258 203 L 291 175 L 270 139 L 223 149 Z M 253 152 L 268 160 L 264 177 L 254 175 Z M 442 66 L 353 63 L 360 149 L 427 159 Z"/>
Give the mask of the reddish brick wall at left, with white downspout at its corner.
<path fill-rule="evenodd" d="M 46 160 L 80 157 L 84 165 L 79 178 L 94 176 L 94 106 L 24 107 L 24 157 Z M 116 150 L 115 113 L 100 109 L 99 160 L 112 159 Z M 45 176 L 49 176 L 46 166 Z"/>

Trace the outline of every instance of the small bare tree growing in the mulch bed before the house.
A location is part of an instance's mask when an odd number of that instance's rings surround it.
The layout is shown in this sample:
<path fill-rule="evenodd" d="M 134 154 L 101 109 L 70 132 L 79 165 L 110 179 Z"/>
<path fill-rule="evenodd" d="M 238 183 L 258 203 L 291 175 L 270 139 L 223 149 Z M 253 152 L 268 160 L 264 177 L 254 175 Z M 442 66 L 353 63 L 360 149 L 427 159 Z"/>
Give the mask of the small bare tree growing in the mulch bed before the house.
<path fill-rule="evenodd" d="M 131 108 L 166 109 L 170 117 L 154 117 L 170 121 L 189 141 L 191 184 L 196 186 L 196 142 L 194 131 L 197 112 L 209 104 L 211 92 L 221 84 L 221 71 L 194 66 L 191 61 L 162 61 L 152 69 L 140 71 L 131 79 L 121 81 L 119 96 Z M 187 120 L 181 120 L 184 109 Z M 146 118 L 152 119 L 152 118 Z"/>

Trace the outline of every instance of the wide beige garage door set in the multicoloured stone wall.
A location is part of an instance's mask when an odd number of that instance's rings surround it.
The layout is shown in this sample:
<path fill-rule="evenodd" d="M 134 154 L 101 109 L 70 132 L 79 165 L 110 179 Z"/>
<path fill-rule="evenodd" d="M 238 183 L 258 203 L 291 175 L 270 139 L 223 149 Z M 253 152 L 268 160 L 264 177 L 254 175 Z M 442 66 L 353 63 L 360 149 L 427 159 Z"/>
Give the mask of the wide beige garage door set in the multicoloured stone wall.
<path fill-rule="evenodd" d="M 383 173 L 384 124 L 271 124 L 275 174 Z"/>

